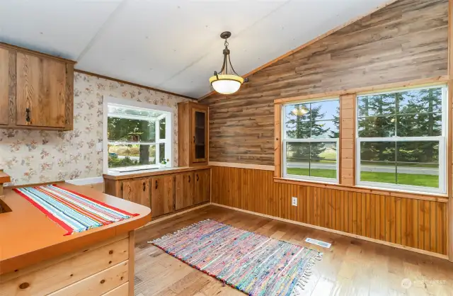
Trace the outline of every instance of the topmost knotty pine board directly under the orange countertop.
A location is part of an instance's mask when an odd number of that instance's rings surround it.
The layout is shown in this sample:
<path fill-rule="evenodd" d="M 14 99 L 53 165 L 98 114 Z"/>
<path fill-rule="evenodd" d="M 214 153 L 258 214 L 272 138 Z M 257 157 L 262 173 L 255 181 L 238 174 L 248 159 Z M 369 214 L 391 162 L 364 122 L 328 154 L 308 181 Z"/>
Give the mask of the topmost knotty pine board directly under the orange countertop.
<path fill-rule="evenodd" d="M 121 239 L 4 283 L 0 277 L 0 296 L 48 295 L 128 259 L 129 238 Z"/>

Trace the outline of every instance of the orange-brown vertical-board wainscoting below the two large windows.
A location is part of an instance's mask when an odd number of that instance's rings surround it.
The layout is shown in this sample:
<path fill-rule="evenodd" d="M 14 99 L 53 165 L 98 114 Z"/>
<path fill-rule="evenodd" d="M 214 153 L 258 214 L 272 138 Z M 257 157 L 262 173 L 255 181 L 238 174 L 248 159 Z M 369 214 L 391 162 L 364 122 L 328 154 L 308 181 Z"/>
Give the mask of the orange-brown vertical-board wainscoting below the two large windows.
<path fill-rule="evenodd" d="M 447 258 L 445 200 L 277 183 L 273 173 L 212 166 L 211 202 Z M 291 205 L 293 196 L 297 207 Z"/>

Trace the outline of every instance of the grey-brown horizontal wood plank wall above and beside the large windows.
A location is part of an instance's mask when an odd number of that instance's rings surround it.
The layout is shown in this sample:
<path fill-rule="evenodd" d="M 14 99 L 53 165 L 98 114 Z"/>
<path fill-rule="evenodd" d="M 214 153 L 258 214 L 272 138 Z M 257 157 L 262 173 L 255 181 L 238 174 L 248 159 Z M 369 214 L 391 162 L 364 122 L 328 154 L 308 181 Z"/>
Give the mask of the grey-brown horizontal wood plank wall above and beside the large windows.
<path fill-rule="evenodd" d="M 448 0 L 400 0 L 249 77 L 210 106 L 210 161 L 274 165 L 276 98 L 447 75 Z"/>

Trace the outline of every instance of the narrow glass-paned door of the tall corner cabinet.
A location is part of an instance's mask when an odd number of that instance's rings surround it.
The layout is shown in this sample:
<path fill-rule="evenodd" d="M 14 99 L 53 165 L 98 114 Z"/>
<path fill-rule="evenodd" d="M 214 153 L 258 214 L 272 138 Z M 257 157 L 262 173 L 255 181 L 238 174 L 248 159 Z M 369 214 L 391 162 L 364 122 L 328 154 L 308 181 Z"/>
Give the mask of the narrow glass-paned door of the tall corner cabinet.
<path fill-rule="evenodd" d="M 194 163 L 207 161 L 207 110 L 192 109 L 192 159 Z"/>

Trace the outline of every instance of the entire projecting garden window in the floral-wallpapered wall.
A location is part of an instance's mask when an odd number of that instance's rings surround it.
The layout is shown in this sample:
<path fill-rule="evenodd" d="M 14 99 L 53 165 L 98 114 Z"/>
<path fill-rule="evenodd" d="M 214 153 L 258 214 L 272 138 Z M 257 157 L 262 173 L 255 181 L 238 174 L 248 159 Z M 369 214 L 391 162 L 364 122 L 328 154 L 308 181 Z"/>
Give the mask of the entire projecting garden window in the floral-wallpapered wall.
<path fill-rule="evenodd" d="M 106 169 L 135 171 L 157 168 L 163 162 L 172 164 L 172 112 L 162 106 L 113 98 L 106 109 Z"/>

